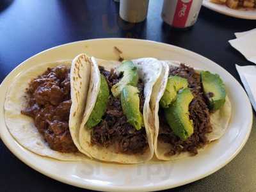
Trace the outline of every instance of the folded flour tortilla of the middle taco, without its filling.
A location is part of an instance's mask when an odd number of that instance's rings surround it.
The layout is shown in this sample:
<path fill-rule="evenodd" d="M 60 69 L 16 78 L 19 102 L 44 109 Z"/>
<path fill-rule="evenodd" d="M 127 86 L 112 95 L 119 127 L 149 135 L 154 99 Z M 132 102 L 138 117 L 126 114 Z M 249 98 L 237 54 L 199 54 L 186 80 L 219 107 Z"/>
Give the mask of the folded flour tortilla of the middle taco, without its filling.
<path fill-rule="evenodd" d="M 141 58 L 138 60 L 132 60 L 134 64 L 138 67 L 139 76 L 143 79 L 145 88 L 145 103 L 143 107 L 143 120 L 145 124 L 145 130 L 147 132 L 148 139 L 148 150 L 144 154 L 121 154 L 116 153 L 113 147 L 99 147 L 97 145 L 91 145 L 91 132 L 92 129 L 86 128 L 86 122 L 92 113 L 95 102 L 97 100 L 97 95 L 99 93 L 100 87 L 100 72 L 97 65 L 104 67 L 106 70 L 110 70 L 111 68 L 118 67 L 120 62 L 118 61 L 106 61 L 99 59 L 92 59 L 96 62 L 93 62 L 94 67 L 92 71 L 92 81 L 90 83 L 90 88 L 88 92 L 88 101 L 86 104 L 86 109 L 84 111 L 83 122 L 81 124 L 80 132 L 79 132 L 79 143 L 84 151 L 87 154 L 90 154 L 90 157 L 95 159 L 99 159 L 101 161 L 108 162 L 116 162 L 116 163 L 143 163 L 145 161 L 150 160 L 154 155 L 154 145 L 153 145 L 153 135 L 154 135 L 154 122 L 152 121 L 152 113 L 150 111 L 150 96 L 152 94 L 152 89 L 157 79 L 161 77 L 161 63 L 154 58 Z"/>

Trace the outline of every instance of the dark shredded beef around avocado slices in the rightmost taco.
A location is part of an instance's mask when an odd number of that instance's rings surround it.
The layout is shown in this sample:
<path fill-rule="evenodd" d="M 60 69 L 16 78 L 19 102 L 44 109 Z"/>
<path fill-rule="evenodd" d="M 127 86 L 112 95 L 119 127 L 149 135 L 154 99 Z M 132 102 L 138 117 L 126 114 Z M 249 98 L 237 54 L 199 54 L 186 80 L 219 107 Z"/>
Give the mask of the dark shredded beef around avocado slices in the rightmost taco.
<path fill-rule="evenodd" d="M 189 118 L 193 120 L 194 132 L 186 141 L 175 136 L 170 126 L 167 124 L 163 110 L 159 110 L 159 140 L 170 143 L 170 151 L 166 155 L 175 155 L 180 152 L 190 152 L 192 155 L 198 153 L 198 148 L 203 147 L 208 141 L 207 132 L 212 131 L 210 124 L 210 113 L 203 96 L 200 75 L 191 67 L 181 64 L 180 67 L 170 68 L 169 75 L 180 76 L 188 79 L 189 88 L 194 99 L 189 104 Z"/>

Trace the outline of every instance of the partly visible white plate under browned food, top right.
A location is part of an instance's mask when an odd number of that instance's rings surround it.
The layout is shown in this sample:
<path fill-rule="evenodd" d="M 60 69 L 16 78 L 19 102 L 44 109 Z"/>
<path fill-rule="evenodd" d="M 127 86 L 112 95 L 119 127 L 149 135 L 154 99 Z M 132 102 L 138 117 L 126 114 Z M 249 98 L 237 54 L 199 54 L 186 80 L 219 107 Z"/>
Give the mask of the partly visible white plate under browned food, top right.
<path fill-rule="evenodd" d="M 211 3 L 210 0 L 204 0 L 203 5 L 212 11 L 222 13 L 231 17 L 252 20 L 256 19 L 256 9 L 249 10 L 246 8 L 239 8 L 238 10 L 234 10 L 232 8 L 228 8 L 228 6 L 226 6 L 225 4 Z"/>

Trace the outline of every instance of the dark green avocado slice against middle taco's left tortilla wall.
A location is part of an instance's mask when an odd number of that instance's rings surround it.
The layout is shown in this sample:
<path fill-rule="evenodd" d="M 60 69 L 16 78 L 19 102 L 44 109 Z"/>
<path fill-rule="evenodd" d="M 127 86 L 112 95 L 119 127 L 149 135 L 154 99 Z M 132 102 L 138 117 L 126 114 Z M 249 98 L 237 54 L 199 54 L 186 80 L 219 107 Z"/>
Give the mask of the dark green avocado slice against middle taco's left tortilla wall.
<path fill-rule="evenodd" d="M 106 113 L 107 105 L 108 105 L 108 98 L 109 98 L 109 88 L 106 78 L 100 74 L 100 90 L 97 96 L 97 100 L 95 102 L 95 106 L 92 110 L 91 115 L 86 122 L 86 127 L 88 129 L 94 127 L 95 125 L 99 124 L 101 121 L 102 116 Z"/>

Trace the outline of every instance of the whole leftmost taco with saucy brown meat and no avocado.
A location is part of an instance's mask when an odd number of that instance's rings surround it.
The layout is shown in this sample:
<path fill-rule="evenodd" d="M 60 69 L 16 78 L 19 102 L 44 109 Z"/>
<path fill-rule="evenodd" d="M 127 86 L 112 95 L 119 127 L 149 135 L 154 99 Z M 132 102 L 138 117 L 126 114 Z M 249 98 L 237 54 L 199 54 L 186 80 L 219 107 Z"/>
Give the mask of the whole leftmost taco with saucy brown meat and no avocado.
<path fill-rule="evenodd" d="M 64 161 L 86 158 L 78 142 L 92 60 L 43 63 L 15 78 L 6 95 L 5 122 L 31 152 Z"/>

